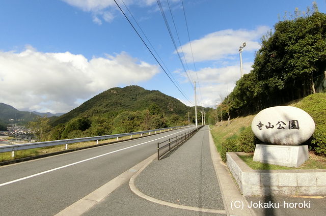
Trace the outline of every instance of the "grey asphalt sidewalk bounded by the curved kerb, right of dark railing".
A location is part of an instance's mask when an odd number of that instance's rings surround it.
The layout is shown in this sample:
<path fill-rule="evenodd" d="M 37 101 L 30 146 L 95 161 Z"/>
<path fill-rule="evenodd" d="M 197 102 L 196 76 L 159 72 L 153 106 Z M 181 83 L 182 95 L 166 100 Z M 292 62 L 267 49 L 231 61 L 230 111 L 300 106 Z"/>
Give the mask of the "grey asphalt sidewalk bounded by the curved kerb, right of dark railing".
<path fill-rule="evenodd" d="M 226 215 L 208 130 L 207 126 L 202 128 L 172 155 L 154 160 L 135 178 L 135 187 L 156 200 L 195 207 L 200 215 L 207 211 Z"/>

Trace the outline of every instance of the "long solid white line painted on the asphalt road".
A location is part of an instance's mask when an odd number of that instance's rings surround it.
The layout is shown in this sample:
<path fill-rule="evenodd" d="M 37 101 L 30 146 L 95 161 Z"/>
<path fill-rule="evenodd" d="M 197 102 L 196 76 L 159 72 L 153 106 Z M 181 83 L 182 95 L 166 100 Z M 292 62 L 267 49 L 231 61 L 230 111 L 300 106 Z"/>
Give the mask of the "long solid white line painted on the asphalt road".
<path fill-rule="evenodd" d="M 186 130 L 188 130 L 188 129 L 179 131 L 177 133 L 180 133 L 180 132 L 183 132 L 183 131 L 186 131 Z M 174 134 L 177 134 L 177 133 L 174 133 Z M 170 134 L 170 135 L 167 135 L 165 137 L 169 137 L 169 136 L 174 135 L 174 134 Z M 143 143 L 140 143 L 140 144 L 137 144 L 137 145 L 132 145 L 132 146 L 129 146 L 129 147 L 121 148 L 119 150 L 111 151 L 111 152 L 105 153 L 103 155 L 95 156 L 93 158 L 85 159 L 85 160 L 82 160 L 82 161 L 77 161 L 77 162 L 72 163 L 72 164 L 67 164 L 65 166 L 57 167 L 57 168 L 50 169 L 50 170 L 47 170 L 47 171 L 44 171 L 44 172 L 39 172 L 39 173 L 36 173 L 34 175 L 29 175 L 29 176 L 26 176 L 26 177 L 23 177 L 23 178 L 18 178 L 16 180 L 12 180 L 12 181 L 8 181 L 8 182 L 5 182 L 5 183 L 1 183 L 0 184 L 0 187 L 5 186 L 7 184 L 15 183 L 15 182 L 18 182 L 18 181 L 22 181 L 22 180 L 25 180 L 25 179 L 28 179 L 28 178 L 32 178 L 32 177 L 35 177 L 35 176 L 38 176 L 38 175 L 43 175 L 43 174 L 48 173 L 48 172 L 52 172 L 52 171 L 56 171 L 56 170 L 59 170 L 59 169 L 70 167 L 70 166 L 73 166 L 73 165 L 76 165 L 76 164 L 80 164 L 80 163 L 83 163 L 83 162 L 86 162 L 86 161 L 90 161 L 90 160 L 93 160 L 93 159 L 96 159 L 96 158 L 100 158 L 100 157 L 103 157 L 103 156 L 106 156 L 106 155 L 110 155 L 112 153 L 115 153 L 115 152 L 118 152 L 118 151 L 122 151 L 122 150 L 125 150 L 125 149 L 128 149 L 128 148 L 133 148 L 133 147 L 136 147 L 136 146 L 139 146 L 139 145 L 143 145 L 143 144 L 146 144 L 146 143 L 149 143 L 149 142 L 153 142 L 155 140 L 159 140 L 159 139 L 162 139 L 162 138 L 165 138 L 165 137 L 160 137 L 160 138 L 153 139 L 153 140 L 150 140 L 150 141 L 147 141 L 147 142 L 143 142 Z"/>

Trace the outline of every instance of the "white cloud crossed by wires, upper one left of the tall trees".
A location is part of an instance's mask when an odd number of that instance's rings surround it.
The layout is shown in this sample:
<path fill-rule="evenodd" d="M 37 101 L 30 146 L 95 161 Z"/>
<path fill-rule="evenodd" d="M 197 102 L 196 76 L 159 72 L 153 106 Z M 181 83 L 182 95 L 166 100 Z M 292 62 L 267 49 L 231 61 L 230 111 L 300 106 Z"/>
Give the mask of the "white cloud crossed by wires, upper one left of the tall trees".
<path fill-rule="evenodd" d="M 191 42 L 195 61 L 219 60 L 232 58 L 238 54 L 239 46 L 247 43 L 246 51 L 260 48 L 259 39 L 269 30 L 267 26 L 259 26 L 254 30 L 226 29 L 204 36 Z M 189 43 L 182 45 L 182 50 L 187 62 L 192 62 L 192 52 Z M 181 47 L 178 48 L 181 52 Z"/>

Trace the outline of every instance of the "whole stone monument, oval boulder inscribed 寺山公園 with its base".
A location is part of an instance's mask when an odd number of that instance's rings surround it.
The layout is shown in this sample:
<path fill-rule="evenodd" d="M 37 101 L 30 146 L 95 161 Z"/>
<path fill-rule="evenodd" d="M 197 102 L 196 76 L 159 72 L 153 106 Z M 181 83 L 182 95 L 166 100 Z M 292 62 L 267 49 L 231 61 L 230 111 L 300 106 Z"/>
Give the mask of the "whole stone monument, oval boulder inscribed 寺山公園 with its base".
<path fill-rule="evenodd" d="M 254 161 L 298 167 L 309 159 L 306 142 L 314 133 L 315 122 L 302 109 L 291 106 L 269 107 L 253 119 L 251 128 L 264 142 L 257 144 Z"/>

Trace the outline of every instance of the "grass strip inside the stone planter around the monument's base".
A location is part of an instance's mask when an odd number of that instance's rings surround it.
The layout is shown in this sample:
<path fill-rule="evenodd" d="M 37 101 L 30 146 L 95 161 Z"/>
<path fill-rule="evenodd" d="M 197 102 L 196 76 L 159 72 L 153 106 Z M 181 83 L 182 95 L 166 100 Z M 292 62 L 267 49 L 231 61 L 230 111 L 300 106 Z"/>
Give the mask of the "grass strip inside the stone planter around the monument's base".
<path fill-rule="evenodd" d="M 326 158 L 316 156 L 313 152 L 309 152 L 309 160 L 297 168 L 260 163 L 253 161 L 253 157 L 253 154 L 239 155 L 239 158 L 254 170 L 326 169 Z"/>

